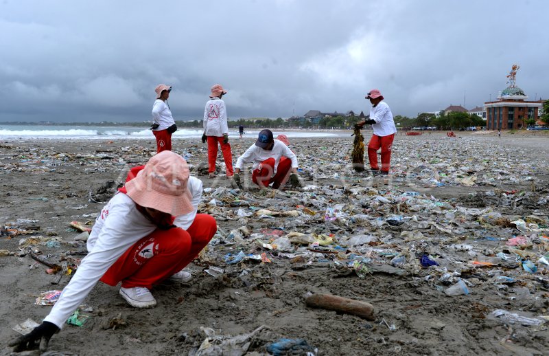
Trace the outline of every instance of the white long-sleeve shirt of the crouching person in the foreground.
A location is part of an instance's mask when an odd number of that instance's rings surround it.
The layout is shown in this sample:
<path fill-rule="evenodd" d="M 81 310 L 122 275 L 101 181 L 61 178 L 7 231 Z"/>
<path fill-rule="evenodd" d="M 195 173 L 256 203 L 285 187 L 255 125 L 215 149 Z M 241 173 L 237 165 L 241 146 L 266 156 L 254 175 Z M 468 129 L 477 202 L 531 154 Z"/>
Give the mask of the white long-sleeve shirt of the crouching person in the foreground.
<path fill-rule="evenodd" d="M 189 177 L 187 189 L 192 194 L 194 211 L 176 216 L 174 221 L 174 225 L 183 230 L 191 226 L 196 216 L 202 197 L 202 181 Z M 88 255 L 82 259 L 73 278 L 44 321 L 52 322 L 61 329 L 109 267 L 132 245 L 154 230 L 156 225 L 137 210 L 128 195 L 115 194 L 95 219 L 87 242 Z"/>

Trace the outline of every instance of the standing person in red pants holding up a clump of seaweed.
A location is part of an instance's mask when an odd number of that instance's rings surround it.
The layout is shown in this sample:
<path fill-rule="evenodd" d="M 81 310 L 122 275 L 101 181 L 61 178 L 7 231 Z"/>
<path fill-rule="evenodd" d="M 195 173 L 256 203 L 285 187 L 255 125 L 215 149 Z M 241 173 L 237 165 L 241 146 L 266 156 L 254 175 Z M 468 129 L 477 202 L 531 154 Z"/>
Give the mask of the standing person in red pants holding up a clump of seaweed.
<path fill-rule="evenodd" d="M 381 173 L 382 175 L 389 174 L 390 152 L 393 146 L 393 139 L 397 132 L 393 113 L 391 113 L 388 104 L 382 101 L 384 98 L 382 93 L 377 89 L 372 89 L 365 97 L 369 99 L 372 107 L 370 109 L 369 120 L 358 122 L 356 125 L 362 128 L 364 124 L 371 124 L 373 135 L 368 144 L 368 158 L 370 167 L 373 173 Z M 379 170 L 377 164 L 377 150 L 382 149 L 382 166 Z"/>

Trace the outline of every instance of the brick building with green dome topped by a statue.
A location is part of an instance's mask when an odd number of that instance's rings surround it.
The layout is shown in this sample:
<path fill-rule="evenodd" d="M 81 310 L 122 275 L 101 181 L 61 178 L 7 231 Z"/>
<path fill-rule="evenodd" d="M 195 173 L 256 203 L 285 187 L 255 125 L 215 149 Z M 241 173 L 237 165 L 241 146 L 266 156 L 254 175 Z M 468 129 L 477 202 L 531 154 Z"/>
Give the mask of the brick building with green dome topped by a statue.
<path fill-rule="evenodd" d="M 513 65 L 507 76 L 509 87 L 500 91 L 498 100 L 484 102 L 487 130 L 525 129 L 528 120 L 539 120 L 544 100 L 528 101 L 526 93 L 515 84 L 518 69 L 518 65 Z"/>

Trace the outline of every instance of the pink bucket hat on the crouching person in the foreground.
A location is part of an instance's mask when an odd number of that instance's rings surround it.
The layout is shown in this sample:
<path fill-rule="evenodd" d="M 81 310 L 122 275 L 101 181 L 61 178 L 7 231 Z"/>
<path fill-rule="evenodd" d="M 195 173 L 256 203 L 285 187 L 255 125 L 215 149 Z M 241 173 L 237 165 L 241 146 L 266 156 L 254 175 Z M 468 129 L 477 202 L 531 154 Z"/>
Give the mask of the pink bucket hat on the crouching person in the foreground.
<path fill-rule="evenodd" d="M 157 153 L 137 177 L 126 182 L 126 191 L 135 203 L 178 216 L 194 210 L 187 190 L 189 166 L 172 151 Z"/>

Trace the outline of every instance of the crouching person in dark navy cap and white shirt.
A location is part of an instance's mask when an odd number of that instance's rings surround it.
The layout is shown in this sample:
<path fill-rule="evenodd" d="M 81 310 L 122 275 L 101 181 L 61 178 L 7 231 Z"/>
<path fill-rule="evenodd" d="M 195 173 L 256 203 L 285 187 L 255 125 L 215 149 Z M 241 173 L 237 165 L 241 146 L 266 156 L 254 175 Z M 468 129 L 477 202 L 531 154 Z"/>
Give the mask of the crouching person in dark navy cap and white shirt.
<path fill-rule="evenodd" d="M 288 159 L 283 159 L 284 157 L 288 157 Z M 265 188 L 272 183 L 273 189 L 279 189 L 288 181 L 288 176 L 292 187 L 299 186 L 295 153 L 283 142 L 274 140 L 272 131 L 268 129 L 261 130 L 255 144 L 238 157 L 233 179 L 236 186 L 242 187 L 240 171 L 246 163 L 253 163 L 252 181 L 260 188 Z"/>

